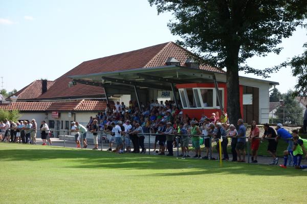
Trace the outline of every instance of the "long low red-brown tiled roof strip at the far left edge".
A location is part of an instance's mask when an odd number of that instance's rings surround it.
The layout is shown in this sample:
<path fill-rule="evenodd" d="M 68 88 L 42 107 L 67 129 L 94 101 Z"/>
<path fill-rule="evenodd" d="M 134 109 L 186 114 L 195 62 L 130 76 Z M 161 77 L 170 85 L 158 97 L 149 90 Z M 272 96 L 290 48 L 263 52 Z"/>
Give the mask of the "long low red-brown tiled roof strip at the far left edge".
<path fill-rule="evenodd" d="M 3 110 L 18 110 L 18 111 L 46 111 L 46 109 L 52 104 L 52 102 L 23 102 L 17 101 L 10 104 L 0 105 L 0 109 Z"/>

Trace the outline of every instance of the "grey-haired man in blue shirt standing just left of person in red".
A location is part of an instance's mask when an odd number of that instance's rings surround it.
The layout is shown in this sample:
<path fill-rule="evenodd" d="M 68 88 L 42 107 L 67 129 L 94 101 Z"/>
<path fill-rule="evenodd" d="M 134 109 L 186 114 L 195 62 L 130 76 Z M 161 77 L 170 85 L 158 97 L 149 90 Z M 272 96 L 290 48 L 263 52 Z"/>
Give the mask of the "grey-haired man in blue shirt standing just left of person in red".
<path fill-rule="evenodd" d="M 246 127 L 243 124 L 244 120 L 243 119 L 238 119 L 238 134 L 237 134 L 237 144 L 235 147 L 235 150 L 238 155 L 238 162 L 245 162 L 245 143 L 246 143 Z M 242 154 L 242 159 L 241 159 L 241 154 Z"/>

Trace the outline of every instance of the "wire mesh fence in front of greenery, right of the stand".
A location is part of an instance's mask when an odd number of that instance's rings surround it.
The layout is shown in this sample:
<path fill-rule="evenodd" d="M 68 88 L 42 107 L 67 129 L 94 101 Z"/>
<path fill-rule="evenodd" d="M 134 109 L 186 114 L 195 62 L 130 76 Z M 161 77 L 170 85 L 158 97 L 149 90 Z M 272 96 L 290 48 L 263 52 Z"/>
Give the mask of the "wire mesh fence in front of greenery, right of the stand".
<path fill-rule="evenodd" d="M 283 123 L 283 124 L 303 124 L 303 116 L 306 108 L 287 109 L 279 108 L 276 109 L 260 109 L 260 121 L 267 121 L 271 124 Z"/>

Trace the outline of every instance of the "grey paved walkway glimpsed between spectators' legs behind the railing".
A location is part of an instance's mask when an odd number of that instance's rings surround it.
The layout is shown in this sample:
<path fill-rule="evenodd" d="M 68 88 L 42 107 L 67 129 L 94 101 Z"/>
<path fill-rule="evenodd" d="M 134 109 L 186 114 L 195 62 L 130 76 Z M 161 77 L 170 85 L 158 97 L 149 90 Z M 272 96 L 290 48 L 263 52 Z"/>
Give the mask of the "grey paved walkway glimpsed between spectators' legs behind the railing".
<path fill-rule="evenodd" d="M 63 140 L 59 140 L 59 139 L 57 139 L 57 138 L 51 138 L 51 141 L 52 141 L 52 146 L 61 146 L 61 147 L 64 147 L 64 141 Z M 42 140 L 40 139 L 40 138 L 37 138 L 36 139 L 36 145 L 41 145 L 42 144 Z M 20 145 L 22 145 L 22 144 L 20 144 Z M 146 146 L 146 144 L 145 144 L 145 146 Z M 147 144 L 147 146 L 148 146 L 148 144 Z M 72 141 L 72 140 L 68 140 L 68 141 L 65 141 L 65 147 L 70 147 L 70 148 L 76 148 L 76 144 L 75 144 L 75 142 L 74 141 Z M 92 144 L 90 144 L 89 146 L 87 146 L 87 148 L 86 149 L 84 149 L 84 150 L 92 150 L 92 148 L 94 148 L 94 145 L 92 145 Z M 107 149 L 108 149 L 108 144 L 106 144 L 106 143 L 103 143 L 103 144 L 99 144 L 99 150 L 103 150 L 103 151 L 106 151 Z M 113 148 L 114 149 L 114 148 Z M 92 150 L 93 151 L 93 150 Z M 179 158 L 177 155 L 178 155 L 178 153 L 179 153 L 179 155 L 181 154 L 181 149 L 179 149 L 179 152 L 177 151 L 177 148 L 174 148 L 173 149 L 173 154 L 174 154 L 174 157 L 177 157 L 177 158 Z M 156 152 L 155 151 L 153 151 L 153 149 L 151 148 L 150 149 L 150 153 L 149 153 L 149 149 L 147 148 L 147 150 L 146 150 L 146 154 L 147 155 L 157 155 L 156 154 Z M 166 151 L 166 154 L 168 154 L 168 152 Z M 202 156 L 205 156 L 205 152 L 202 152 Z M 195 159 L 195 158 L 192 158 L 193 156 L 195 155 L 195 153 L 194 152 L 190 152 L 190 157 L 191 158 L 186 158 L 186 159 Z M 213 153 L 212 154 L 212 156 L 214 157 L 214 158 L 217 158 L 217 154 L 216 153 Z M 162 156 L 160 156 L 160 157 L 162 157 Z M 232 155 L 231 154 L 229 154 L 229 161 L 231 161 L 232 160 Z M 246 162 L 248 161 L 248 158 L 246 157 Z M 251 159 L 250 159 L 250 161 L 251 161 Z M 271 158 L 271 157 L 262 157 L 262 156 L 258 156 L 258 164 L 266 164 L 266 165 L 268 165 L 269 163 L 271 163 L 273 161 L 273 159 Z M 282 164 L 283 163 L 283 158 L 279 158 L 279 161 L 278 161 L 278 164 Z M 252 163 L 253 165 L 254 165 L 254 163 Z M 302 164 L 305 164 L 305 165 L 307 165 L 307 160 L 302 160 Z"/>

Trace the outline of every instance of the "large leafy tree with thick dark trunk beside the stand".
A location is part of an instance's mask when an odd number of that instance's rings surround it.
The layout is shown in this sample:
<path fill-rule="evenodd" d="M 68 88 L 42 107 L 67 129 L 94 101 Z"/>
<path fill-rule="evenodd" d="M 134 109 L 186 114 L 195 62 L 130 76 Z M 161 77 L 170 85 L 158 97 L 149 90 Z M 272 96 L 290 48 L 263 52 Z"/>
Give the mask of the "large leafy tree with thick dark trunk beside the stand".
<path fill-rule="evenodd" d="M 239 70 L 262 77 L 280 66 L 255 69 L 246 64 L 253 56 L 279 54 L 282 38 L 302 24 L 306 0 L 148 0 L 158 14 L 171 12 L 168 23 L 178 41 L 205 63 L 227 69 L 227 111 L 231 123 L 241 117 Z M 284 64 L 283 64 L 284 65 Z"/>

